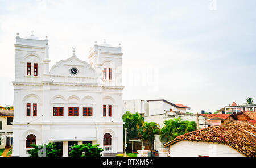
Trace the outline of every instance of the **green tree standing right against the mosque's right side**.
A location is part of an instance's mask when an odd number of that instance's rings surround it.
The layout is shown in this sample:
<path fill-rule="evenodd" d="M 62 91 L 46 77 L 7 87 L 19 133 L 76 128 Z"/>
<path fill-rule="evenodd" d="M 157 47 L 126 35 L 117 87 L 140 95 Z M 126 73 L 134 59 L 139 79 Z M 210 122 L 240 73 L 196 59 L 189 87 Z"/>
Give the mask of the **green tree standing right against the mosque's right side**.
<path fill-rule="evenodd" d="M 131 114 L 129 111 L 126 111 L 126 114 L 123 115 L 123 129 L 127 128 L 127 140 L 131 138 L 138 138 L 139 128 L 144 123 L 144 118 L 136 112 L 136 114 Z M 125 130 L 123 130 L 123 140 L 125 140 Z"/>

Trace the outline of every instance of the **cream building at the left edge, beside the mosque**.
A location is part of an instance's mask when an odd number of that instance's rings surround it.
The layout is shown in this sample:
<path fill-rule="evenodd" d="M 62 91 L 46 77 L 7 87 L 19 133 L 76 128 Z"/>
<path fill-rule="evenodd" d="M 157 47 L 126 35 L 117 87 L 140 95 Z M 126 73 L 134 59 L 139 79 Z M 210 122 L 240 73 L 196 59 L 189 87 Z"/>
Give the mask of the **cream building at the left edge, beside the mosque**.
<path fill-rule="evenodd" d="M 0 110 L 0 149 L 13 145 L 13 110 Z"/>

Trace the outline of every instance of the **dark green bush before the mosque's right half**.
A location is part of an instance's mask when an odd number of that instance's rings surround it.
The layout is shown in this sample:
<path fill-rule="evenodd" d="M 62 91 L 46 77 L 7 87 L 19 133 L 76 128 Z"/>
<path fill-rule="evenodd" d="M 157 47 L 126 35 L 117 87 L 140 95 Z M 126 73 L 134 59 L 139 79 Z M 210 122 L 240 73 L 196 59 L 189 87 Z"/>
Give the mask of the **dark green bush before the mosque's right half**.
<path fill-rule="evenodd" d="M 100 157 L 102 148 L 98 147 L 100 145 L 92 145 L 92 144 L 82 144 L 75 145 L 71 147 L 71 152 L 69 152 L 69 156 L 71 157 Z"/>

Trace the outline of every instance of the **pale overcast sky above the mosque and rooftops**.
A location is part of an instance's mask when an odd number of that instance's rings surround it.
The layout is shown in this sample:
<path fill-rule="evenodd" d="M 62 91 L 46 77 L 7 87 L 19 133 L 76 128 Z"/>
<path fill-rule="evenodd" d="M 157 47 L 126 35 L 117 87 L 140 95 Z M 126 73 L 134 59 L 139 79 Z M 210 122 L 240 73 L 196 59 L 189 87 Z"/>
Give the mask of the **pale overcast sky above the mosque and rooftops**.
<path fill-rule="evenodd" d="M 123 52 L 123 99 L 215 112 L 256 98 L 256 1 L 0 0 L 0 106 L 12 105 L 16 33 L 48 36 L 51 66 L 94 41 Z M 146 75 L 144 75 L 146 74 Z M 256 101 L 254 101 L 256 102 Z"/>

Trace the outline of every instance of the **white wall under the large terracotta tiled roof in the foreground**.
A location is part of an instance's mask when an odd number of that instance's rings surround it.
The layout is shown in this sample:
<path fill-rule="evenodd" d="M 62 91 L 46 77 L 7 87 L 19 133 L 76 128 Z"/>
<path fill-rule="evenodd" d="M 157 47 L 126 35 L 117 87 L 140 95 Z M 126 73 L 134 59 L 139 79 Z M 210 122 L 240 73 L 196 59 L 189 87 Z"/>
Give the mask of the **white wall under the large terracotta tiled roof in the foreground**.
<path fill-rule="evenodd" d="M 225 144 L 213 142 L 179 141 L 170 146 L 171 157 L 242 157 L 237 150 Z"/>

